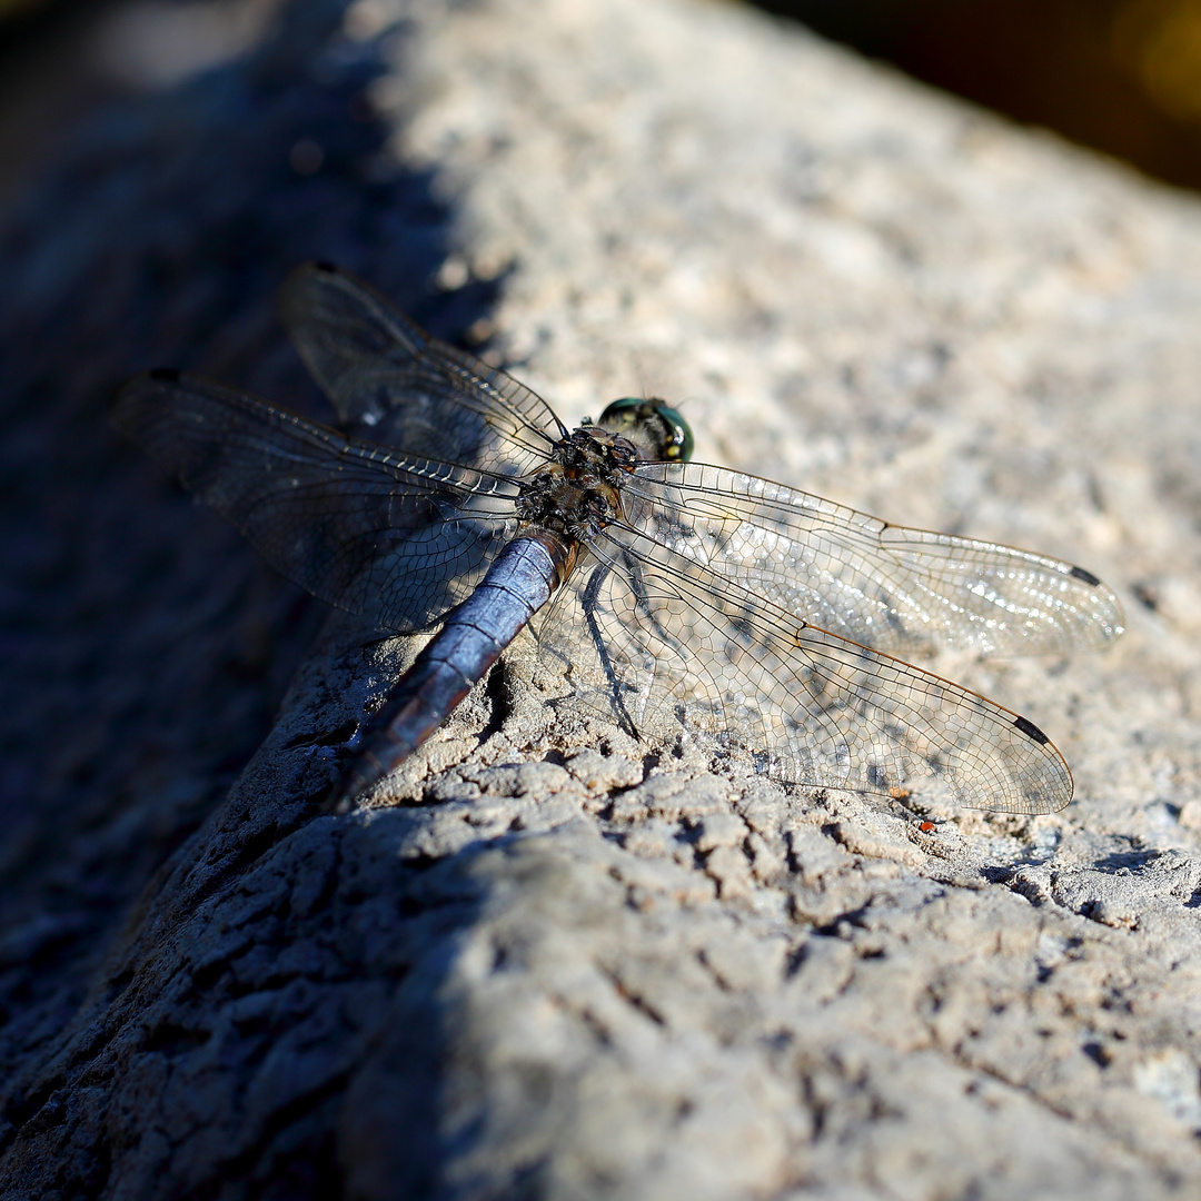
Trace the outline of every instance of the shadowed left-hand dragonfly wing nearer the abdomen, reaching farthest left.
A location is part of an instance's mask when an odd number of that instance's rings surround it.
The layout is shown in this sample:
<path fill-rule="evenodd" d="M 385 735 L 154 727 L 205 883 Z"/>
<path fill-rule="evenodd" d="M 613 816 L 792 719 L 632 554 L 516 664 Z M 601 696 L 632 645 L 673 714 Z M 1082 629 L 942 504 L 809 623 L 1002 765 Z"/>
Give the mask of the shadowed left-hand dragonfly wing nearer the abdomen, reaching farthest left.
<path fill-rule="evenodd" d="M 382 629 L 437 621 L 516 528 L 508 479 L 393 454 L 205 380 L 137 376 L 113 423 L 277 572 Z"/>

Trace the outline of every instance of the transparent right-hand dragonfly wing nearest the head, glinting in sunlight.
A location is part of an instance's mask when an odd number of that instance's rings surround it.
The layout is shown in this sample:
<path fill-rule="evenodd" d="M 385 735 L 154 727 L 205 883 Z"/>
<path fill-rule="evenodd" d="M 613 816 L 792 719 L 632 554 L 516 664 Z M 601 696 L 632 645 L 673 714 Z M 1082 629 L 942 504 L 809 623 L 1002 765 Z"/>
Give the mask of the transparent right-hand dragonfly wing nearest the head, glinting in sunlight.
<path fill-rule="evenodd" d="M 888 653 L 1100 649 L 1122 633 L 1097 576 L 1044 555 L 907 530 L 705 464 L 645 464 L 627 516 L 715 576 Z"/>

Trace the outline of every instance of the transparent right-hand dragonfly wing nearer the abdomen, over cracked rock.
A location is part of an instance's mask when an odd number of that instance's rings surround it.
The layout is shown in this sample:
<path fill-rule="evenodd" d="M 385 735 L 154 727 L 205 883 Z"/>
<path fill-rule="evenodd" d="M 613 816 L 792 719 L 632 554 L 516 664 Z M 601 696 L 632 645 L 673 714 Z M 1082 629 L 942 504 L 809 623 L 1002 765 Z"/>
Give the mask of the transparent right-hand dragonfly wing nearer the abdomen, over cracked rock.
<path fill-rule="evenodd" d="M 681 728 L 779 779 L 1048 813 L 1071 775 L 1035 725 L 900 659 L 807 626 L 628 526 L 592 544 L 538 638 L 578 701 L 638 734 Z"/>

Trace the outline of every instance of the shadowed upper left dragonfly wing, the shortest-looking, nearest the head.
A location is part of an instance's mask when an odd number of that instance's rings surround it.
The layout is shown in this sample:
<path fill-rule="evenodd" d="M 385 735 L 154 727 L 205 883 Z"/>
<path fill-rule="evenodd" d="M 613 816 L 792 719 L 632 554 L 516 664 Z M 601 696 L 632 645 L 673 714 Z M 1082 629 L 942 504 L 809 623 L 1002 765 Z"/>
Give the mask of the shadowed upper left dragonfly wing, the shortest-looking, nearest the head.
<path fill-rule="evenodd" d="M 297 268 L 280 292 L 280 312 L 341 424 L 372 441 L 524 476 L 567 432 L 524 384 L 426 334 L 336 268 Z"/>

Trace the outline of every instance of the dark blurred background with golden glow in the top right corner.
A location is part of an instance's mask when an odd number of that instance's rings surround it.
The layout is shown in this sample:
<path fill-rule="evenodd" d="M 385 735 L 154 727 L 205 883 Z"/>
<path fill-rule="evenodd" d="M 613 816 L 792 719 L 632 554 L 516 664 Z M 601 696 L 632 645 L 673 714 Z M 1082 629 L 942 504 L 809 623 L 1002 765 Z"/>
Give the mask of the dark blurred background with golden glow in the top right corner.
<path fill-rule="evenodd" d="M 1201 0 L 765 0 L 1018 121 L 1201 187 Z"/>

